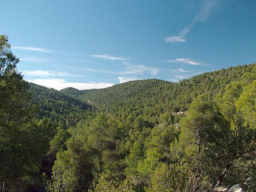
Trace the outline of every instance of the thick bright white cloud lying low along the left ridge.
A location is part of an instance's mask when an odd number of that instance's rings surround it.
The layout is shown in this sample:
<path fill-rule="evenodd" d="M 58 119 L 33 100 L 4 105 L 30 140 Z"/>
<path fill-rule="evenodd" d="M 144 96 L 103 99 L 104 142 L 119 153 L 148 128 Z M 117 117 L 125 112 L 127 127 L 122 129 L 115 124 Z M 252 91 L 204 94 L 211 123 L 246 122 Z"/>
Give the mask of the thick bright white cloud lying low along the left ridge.
<path fill-rule="evenodd" d="M 85 90 L 85 89 L 101 89 L 113 86 L 112 83 L 74 83 L 74 82 L 66 82 L 64 79 L 34 79 L 34 80 L 27 80 L 28 82 L 32 82 L 34 84 L 38 84 L 41 86 L 46 86 L 50 88 L 54 88 L 56 90 L 62 90 L 67 87 L 73 87 L 78 90 Z"/>

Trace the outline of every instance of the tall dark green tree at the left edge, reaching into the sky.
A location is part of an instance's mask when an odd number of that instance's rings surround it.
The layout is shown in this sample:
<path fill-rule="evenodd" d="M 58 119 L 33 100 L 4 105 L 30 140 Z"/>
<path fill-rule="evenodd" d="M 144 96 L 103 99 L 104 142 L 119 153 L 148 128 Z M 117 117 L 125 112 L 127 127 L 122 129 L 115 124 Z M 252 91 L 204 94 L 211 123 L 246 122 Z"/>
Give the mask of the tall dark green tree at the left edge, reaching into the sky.
<path fill-rule="evenodd" d="M 16 71 L 16 58 L 0 36 L 0 183 L 4 191 L 26 191 L 36 183 L 48 147 L 51 125 L 33 119 L 28 83 Z"/>

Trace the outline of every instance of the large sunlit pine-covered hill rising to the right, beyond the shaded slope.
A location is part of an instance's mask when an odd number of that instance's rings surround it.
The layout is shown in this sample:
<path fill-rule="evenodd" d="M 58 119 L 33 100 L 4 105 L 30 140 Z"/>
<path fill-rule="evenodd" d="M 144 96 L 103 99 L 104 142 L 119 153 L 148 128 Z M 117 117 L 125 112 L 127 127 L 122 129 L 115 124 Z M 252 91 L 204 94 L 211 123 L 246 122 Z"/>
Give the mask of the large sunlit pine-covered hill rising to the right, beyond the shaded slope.
<path fill-rule="evenodd" d="M 88 101 L 104 112 L 126 118 L 131 113 L 141 114 L 144 119 L 166 111 L 188 110 L 192 100 L 204 94 L 212 99 L 223 93 L 227 84 L 237 81 L 255 64 L 230 67 L 205 72 L 178 83 L 164 80 L 136 80 L 116 84 L 109 88 L 77 90 L 66 88 L 60 92 Z"/>

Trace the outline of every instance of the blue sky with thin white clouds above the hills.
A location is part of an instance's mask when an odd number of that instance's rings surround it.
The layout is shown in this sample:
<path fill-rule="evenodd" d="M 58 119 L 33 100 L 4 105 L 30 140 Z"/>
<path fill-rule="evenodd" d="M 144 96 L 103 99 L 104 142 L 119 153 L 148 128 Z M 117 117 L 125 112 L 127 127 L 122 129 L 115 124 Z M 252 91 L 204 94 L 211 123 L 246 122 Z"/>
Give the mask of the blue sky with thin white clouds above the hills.
<path fill-rule="evenodd" d="M 256 62 L 255 12 L 255 0 L 9 0 L 0 34 L 46 87 L 178 82 Z"/>

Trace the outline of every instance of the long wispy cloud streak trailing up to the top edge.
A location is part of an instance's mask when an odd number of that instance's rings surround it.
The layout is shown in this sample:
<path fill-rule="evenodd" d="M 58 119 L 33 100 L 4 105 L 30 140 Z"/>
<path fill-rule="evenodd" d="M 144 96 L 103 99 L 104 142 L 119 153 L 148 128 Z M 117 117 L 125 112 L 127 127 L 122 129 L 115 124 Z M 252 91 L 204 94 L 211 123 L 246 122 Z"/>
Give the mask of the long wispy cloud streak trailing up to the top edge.
<path fill-rule="evenodd" d="M 203 2 L 202 8 L 196 16 L 194 16 L 192 22 L 183 28 L 178 36 L 169 36 L 165 38 L 165 42 L 185 42 L 185 35 L 190 32 L 197 22 L 204 22 L 208 19 L 208 16 L 211 13 L 212 8 L 217 4 L 217 0 L 206 0 Z"/>

